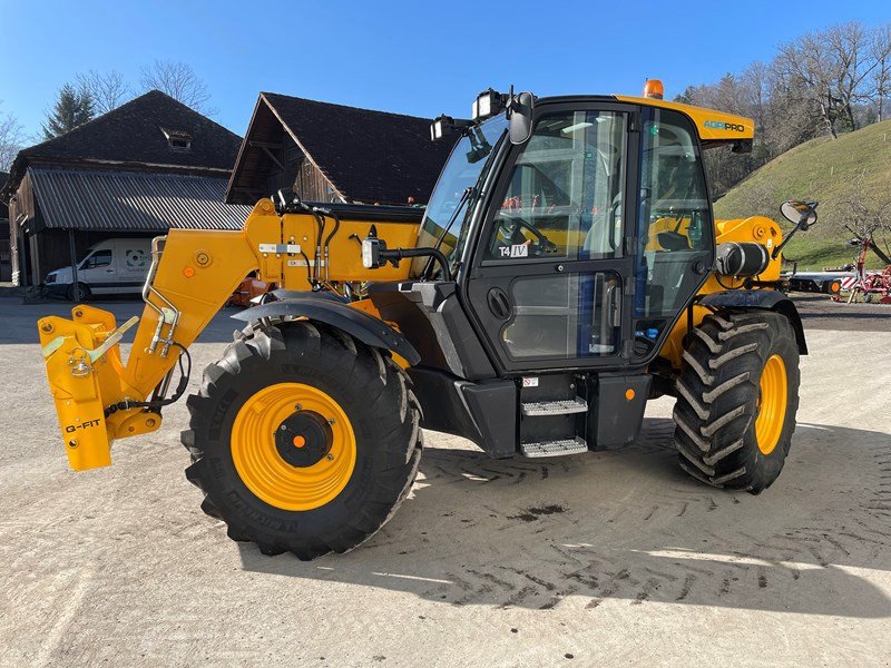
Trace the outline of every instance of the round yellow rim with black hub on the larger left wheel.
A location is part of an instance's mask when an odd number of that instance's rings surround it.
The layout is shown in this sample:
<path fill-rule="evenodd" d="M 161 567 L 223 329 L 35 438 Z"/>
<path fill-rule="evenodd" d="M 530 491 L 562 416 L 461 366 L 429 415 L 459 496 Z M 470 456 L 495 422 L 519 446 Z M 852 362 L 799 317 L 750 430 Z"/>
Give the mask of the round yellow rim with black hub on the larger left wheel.
<path fill-rule="evenodd" d="M 282 510 L 313 510 L 332 501 L 350 481 L 355 455 L 353 426 L 340 404 L 301 383 L 264 387 L 244 403 L 232 426 L 238 477 Z"/>

